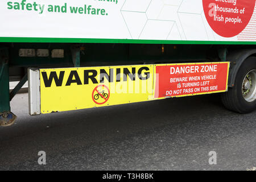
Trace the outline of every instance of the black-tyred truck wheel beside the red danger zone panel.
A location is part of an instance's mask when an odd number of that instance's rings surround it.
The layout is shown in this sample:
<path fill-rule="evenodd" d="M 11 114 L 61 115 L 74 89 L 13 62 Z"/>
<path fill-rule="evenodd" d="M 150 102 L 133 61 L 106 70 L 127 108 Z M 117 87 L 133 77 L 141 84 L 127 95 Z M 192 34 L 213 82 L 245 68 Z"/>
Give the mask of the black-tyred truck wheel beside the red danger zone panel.
<path fill-rule="evenodd" d="M 233 88 L 222 94 L 225 107 L 246 114 L 256 109 L 256 57 L 247 58 L 239 69 Z"/>

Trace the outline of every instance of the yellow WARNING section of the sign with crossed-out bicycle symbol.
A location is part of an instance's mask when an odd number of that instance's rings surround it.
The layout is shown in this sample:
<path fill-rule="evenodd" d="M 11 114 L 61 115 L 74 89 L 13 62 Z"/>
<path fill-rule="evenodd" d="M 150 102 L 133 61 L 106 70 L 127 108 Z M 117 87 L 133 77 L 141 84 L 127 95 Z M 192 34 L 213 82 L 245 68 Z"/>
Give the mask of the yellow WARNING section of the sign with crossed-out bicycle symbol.
<path fill-rule="evenodd" d="M 154 65 L 40 69 L 41 113 L 153 99 Z"/>

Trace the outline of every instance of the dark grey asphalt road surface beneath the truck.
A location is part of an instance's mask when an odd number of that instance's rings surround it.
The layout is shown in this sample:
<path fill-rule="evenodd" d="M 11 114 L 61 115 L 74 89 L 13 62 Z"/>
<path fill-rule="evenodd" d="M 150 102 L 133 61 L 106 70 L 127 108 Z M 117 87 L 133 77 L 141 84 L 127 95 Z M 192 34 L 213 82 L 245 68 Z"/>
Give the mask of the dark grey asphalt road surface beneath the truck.
<path fill-rule="evenodd" d="M 218 95 L 30 117 L 27 94 L 0 127 L 0 170 L 248 170 L 256 167 L 256 111 L 226 110 Z M 38 152 L 46 152 L 46 165 Z M 217 164 L 209 165 L 209 152 Z M 254 167 L 254 168 L 253 168 Z"/>

